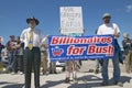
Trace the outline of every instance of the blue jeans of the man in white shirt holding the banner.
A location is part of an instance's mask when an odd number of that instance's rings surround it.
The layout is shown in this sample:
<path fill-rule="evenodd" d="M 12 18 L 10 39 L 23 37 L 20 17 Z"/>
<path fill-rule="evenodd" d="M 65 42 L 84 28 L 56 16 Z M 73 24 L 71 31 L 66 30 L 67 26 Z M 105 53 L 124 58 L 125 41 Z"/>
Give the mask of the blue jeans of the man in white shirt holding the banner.
<path fill-rule="evenodd" d="M 103 65 L 102 65 L 103 81 L 108 81 L 109 79 L 108 63 L 109 63 L 109 59 L 103 59 Z M 120 67 L 119 67 L 119 53 L 118 52 L 114 54 L 114 57 L 112 58 L 112 64 L 113 64 L 113 79 L 114 81 L 119 81 L 120 80 Z"/>

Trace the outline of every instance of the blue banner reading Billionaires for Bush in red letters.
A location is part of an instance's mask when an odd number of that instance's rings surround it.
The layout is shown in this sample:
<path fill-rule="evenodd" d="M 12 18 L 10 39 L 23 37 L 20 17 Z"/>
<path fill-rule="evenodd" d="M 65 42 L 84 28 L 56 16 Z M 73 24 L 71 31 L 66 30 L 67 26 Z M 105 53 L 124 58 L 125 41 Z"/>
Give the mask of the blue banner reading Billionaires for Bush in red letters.
<path fill-rule="evenodd" d="M 50 36 L 50 58 L 51 61 L 112 58 L 113 40 L 112 35 Z"/>

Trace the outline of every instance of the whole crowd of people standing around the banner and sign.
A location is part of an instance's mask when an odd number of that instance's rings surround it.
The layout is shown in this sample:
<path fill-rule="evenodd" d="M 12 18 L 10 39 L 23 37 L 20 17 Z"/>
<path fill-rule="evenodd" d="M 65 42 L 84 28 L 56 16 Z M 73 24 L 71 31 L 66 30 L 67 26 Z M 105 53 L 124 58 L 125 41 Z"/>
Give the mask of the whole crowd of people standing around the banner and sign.
<path fill-rule="evenodd" d="M 118 24 L 111 23 L 111 15 L 109 13 L 105 13 L 102 15 L 103 23 L 96 30 L 97 35 L 111 34 L 114 37 L 114 58 L 112 58 L 113 63 L 113 79 L 114 85 L 122 86 L 120 81 L 120 66 L 119 63 L 123 63 L 123 58 L 121 57 L 121 48 L 118 44 L 118 37 L 120 36 L 120 29 Z M 48 46 L 47 46 L 47 36 L 43 36 L 43 32 L 37 30 L 35 26 L 40 23 L 40 21 L 35 18 L 26 19 L 26 23 L 29 24 L 28 29 L 24 29 L 22 34 L 15 38 L 14 35 L 10 35 L 10 41 L 6 45 L 0 43 L 0 53 L 1 50 L 4 48 L 4 55 L 8 56 L 9 64 L 7 69 L 12 74 L 24 74 L 25 77 L 25 88 L 31 88 L 31 73 L 34 70 L 34 81 L 35 88 L 40 88 L 40 67 L 42 67 L 42 74 L 45 75 L 47 73 L 47 66 L 50 65 L 50 73 L 56 74 L 55 62 L 50 62 L 48 57 Z M 62 34 L 67 36 L 82 36 L 80 33 L 69 33 Z M 128 33 L 123 34 L 122 46 L 123 46 L 123 55 L 124 55 L 124 64 L 127 73 L 132 73 L 132 40 L 129 37 Z M 50 62 L 50 64 L 48 64 Z M 101 72 L 102 74 L 102 86 L 107 86 L 109 84 L 109 75 L 108 75 L 108 63 L 109 59 L 97 59 L 97 66 L 95 73 L 98 74 Z M 81 61 L 68 61 L 66 62 L 66 82 L 70 81 L 70 74 L 73 74 L 73 80 L 77 82 L 77 70 L 78 65 L 81 65 Z"/>

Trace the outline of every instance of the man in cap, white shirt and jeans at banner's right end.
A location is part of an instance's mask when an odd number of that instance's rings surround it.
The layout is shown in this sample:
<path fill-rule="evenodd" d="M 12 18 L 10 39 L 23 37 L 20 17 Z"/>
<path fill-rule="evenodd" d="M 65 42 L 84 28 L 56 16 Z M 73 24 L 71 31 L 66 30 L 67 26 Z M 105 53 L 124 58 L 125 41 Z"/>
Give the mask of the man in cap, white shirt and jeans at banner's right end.
<path fill-rule="evenodd" d="M 98 35 L 106 35 L 106 34 L 111 34 L 114 37 L 114 48 L 116 48 L 116 53 L 114 53 L 114 57 L 112 58 L 112 63 L 113 63 L 113 80 L 114 80 L 114 85 L 119 85 L 122 86 L 122 82 L 120 82 L 120 67 L 119 67 L 119 62 L 120 62 L 120 46 L 118 44 L 118 37 L 120 36 L 120 29 L 118 26 L 118 24 L 116 23 L 111 23 L 111 15 L 110 13 L 105 13 L 102 15 L 102 20 L 103 20 L 103 24 L 101 24 L 98 28 Z M 122 62 L 122 61 L 121 61 Z M 107 86 L 109 84 L 109 76 L 108 76 L 108 63 L 109 59 L 103 59 L 103 64 L 102 64 L 102 86 Z"/>

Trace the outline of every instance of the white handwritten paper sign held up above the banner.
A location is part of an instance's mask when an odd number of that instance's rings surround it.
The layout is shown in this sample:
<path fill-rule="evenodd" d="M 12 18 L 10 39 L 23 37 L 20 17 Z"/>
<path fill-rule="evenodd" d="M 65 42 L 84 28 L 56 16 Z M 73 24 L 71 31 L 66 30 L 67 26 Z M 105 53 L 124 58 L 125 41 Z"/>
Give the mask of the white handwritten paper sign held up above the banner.
<path fill-rule="evenodd" d="M 81 7 L 61 7 L 61 33 L 84 33 Z"/>

